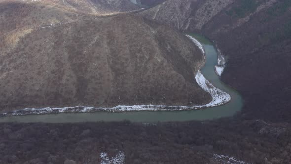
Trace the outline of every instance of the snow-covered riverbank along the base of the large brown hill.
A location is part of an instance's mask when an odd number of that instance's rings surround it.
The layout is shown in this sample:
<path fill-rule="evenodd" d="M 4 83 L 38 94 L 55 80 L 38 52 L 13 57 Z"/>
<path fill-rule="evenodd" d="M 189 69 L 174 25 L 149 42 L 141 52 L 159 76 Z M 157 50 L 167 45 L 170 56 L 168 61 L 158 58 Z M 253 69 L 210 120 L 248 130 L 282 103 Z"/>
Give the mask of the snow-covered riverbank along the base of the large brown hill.
<path fill-rule="evenodd" d="M 193 43 L 198 46 L 201 50 L 204 62 L 205 60 L 205 51 L 203 45 L 197 41 L 195 38 L 186 35 Z M 219 63 L 218 63 L 219 64 Z M 201 66 L 202 67 L 202 66 Z M 211 82 L 209 82 L 201 73 L 195 75 L 195 80 L 199 86 L 212 96 L 212 101 L 205 105 L 195 105 L 192 107 L 188 106 L 165 106 L 165 105 L 134 105 L 134 106 L 124 106 L 119 105 L 113 108 L 103 108 L 103 107 L 85 107 L 85 106 L 76 106 L 76 107 L 64 107 L 64 108 L 26 108 L 23 110 L 16 110 L 8 113 L 2 113 L 0 116 L 21 116 L 21 115 L 44 115 L 44 114 L 58 114 L 58 113 L 90 113 L 90 112 L 125 112 L 125 111 L 182 111 L 182 110 L 197 110 L 203 108 L 210 108 L 219 105 L 223 105 L 230 101 L 231 97 L 228 93 L 222 91 L 215 87 Z"/>

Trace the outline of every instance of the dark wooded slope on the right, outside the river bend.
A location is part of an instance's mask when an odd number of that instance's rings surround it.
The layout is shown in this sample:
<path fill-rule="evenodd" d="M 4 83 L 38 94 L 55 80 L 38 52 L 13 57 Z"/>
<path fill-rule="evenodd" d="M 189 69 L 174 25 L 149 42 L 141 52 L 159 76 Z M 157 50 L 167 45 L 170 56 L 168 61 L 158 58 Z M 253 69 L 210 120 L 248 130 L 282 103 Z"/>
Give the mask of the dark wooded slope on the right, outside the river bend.
<path fill-rule="evenodd" d="M 248 119 L 291 121 L 290 18 L 290 0 L 267 0 L 236 3 L 205 25 L 228 55 L 222 80 L 243 94 Z"/>

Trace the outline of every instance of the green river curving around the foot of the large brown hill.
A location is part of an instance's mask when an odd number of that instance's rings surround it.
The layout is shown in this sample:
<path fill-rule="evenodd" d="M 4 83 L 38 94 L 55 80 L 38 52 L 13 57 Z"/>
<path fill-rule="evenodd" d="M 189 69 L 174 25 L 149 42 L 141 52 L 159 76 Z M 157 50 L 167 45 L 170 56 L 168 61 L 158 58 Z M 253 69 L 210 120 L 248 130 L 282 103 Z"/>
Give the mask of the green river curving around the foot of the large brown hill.
<path fill-rule="evenodd" d="M 98 121 L 123 121 L 142 123 L 176 122 L 176 121 L 203 121 L 222 117 L 233 116 L 243 107 L 241 95 L 232 87 L 220 81 L 214 67 L 218 63 L 218 51 L 213 43 L 203 36 L 191 34 L 200 41 L 205 49 L 206 63 L 201 73 L 217 88 L 227 92 L 231 96 L 229 103 L 221 106 L 201 110 L 190 111 L 140 111 L 140 112 L 94 112 L 94 113 L 60 113 L 50 115 L 27 115 L 1 117 L 0 122 L 45 122 L 45 123 L 76 123 L 76 122 L 98 122 Z"/>

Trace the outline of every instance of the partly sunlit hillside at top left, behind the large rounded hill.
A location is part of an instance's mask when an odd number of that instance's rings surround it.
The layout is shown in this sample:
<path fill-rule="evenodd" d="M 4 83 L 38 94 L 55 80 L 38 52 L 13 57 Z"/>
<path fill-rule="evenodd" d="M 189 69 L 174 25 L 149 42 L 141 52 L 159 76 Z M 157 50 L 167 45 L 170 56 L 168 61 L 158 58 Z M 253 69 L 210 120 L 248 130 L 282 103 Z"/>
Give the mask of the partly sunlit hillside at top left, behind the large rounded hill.
<path fill-rule="evenodd" d="M 128 0 L 0 0 L 0 4 L 0 22 L 5 22 L 0 24 L 0 36 L 139 9 Z"/>

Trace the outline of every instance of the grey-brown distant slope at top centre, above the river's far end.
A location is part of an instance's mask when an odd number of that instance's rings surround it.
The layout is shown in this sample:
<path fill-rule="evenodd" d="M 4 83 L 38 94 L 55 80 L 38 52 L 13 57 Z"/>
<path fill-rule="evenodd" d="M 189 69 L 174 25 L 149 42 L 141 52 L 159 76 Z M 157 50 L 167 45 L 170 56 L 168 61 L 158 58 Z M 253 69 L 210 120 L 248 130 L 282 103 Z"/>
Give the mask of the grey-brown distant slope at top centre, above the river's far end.
<path fill-rule="evenodd" d="M 166 0 L 140 15 L 169 24 L 181 31 L 201 30 L 225 6 L 234 0 Z"/>

